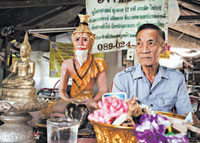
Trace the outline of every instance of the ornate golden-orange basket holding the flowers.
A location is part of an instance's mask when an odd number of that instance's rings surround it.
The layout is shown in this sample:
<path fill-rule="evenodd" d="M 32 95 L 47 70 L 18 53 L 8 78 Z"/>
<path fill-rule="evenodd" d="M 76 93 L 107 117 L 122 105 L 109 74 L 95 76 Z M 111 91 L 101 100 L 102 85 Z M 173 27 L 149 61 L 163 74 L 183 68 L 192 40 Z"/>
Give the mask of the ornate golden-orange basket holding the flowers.
<path fill-rule="evenodd" d="M 137 143 L 133 127 L 91 122 L 94 125 L 97 143 Z"/>

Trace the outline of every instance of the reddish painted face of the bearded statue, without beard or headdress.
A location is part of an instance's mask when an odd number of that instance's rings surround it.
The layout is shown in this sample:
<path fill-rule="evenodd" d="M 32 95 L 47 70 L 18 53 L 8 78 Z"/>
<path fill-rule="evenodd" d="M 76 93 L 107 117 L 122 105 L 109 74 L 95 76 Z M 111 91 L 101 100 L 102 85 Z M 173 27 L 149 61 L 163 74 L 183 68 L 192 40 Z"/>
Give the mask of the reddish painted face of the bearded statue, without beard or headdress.
<path fill-rule="evenodd" d="M 88 33 L 76 33 L 74 36 L 74 48 L 75 50 L 87 50 L 90 48 L 91 40 Z"/>

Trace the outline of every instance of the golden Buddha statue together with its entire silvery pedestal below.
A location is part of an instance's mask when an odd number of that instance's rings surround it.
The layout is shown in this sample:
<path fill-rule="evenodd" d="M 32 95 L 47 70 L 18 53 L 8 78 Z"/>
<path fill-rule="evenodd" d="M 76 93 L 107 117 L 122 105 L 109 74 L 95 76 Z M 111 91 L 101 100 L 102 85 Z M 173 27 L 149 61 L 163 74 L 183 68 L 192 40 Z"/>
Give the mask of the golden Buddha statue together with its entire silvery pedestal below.
<path fill-rule="evenodd" d="M 38 111 L 47 105 L 38 100 L 35 81 L 35 63 L 30 60 L 31 45 L 26 33 L 20 46 L 20 60 L 14 63 L 11 74 L 3 80 L 0 95 L 1 143 L 36 143 L 33 129 L 27 124 L 32 119 L 29 112 Z"/>

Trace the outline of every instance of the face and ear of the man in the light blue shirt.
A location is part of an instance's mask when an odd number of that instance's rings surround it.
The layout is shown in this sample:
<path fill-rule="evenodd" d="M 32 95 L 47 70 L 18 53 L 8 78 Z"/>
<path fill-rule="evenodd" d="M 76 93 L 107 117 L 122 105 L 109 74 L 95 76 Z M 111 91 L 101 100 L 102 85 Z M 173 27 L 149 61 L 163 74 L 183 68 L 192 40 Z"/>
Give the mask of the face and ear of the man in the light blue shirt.
<path fill-rule="evenodd" d="M 142 66 L 153 66 L 159 63 L 160 53 L 165 52 L 165 44 L 158 31 L 143 29 L 136 37 L 136 53 Z"/>

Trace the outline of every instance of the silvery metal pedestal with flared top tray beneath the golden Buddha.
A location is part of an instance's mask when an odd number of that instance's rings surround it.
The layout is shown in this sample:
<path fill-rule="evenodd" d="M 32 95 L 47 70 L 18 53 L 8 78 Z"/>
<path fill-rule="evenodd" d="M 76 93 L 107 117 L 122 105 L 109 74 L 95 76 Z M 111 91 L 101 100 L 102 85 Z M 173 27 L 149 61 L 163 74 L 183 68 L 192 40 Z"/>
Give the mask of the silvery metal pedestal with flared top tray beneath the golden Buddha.
<path fill-rule="evenodd" d="M 3 143 L 36 143 L 33 129 L 27 124 L 32 119 L 29 112 L 38 111 L 45 107 L 46 101 L 15 102 L 0 101 L 0 142 Z"/>

